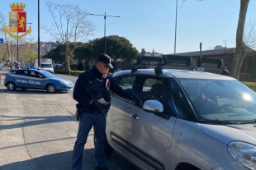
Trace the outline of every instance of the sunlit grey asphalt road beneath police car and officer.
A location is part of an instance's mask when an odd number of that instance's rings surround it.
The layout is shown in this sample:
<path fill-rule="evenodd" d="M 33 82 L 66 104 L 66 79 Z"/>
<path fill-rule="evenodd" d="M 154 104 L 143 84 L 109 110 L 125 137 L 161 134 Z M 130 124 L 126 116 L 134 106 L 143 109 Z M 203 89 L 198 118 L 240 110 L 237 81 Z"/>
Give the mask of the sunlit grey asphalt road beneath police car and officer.
<path fill-rule="evenodd" d="M 4 74 L 0 72 L 0 74 Z M 57 75 L 73 81 L 78 77 Z M 73 91 L 48 94 L 43 90 L 7 91 L 0 84 L 0 170 L 71 169 L 78 132 Z M 120 154 L 107 159 L 111 170 L 135 167 Z M 93 131 L 83 152 L 83 169 L 95 167 Z"/>

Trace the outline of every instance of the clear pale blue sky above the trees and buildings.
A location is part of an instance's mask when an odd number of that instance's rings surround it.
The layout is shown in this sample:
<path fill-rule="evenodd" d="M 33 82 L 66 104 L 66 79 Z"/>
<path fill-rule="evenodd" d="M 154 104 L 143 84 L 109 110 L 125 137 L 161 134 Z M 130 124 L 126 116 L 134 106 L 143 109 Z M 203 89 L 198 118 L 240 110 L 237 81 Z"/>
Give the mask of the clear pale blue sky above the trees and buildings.
<path fill-rule="evenodd" d="M 26 4 L 27 22 L 32 23 L 28 37 L 38 38 L 37 0 L 0 0 L 0 11 L 8 16 L 12 2 Z M 139 52 L 174 53 L 176 0 L 55 0 L 72 3 L 88 13 L 108 16 L 106 36 L 125 37 Z M 235 47 L 239 19 L 239 0 L 178 0 L 176 53 L 209 50 L 216 45 Z M 256 0 L 250 0 L 246 21 L 256 21 Z M 88 16 L 96 25 L 88 40 L 104 37 L 104 16 Z M 45 0 L 40 0 L 40 26 L 53 22 Z M 7 18 L 8 23 L 8 18 Z M 55 41 L 40 28 L 40 41 Z"/>

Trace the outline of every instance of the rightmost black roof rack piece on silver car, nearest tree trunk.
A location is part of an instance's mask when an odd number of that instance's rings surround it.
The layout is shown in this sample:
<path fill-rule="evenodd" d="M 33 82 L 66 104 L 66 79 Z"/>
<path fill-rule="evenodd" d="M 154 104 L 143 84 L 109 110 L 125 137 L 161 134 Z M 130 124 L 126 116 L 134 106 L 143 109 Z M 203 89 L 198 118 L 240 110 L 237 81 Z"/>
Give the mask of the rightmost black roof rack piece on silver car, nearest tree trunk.
<path fill-rule="evenodd" d="M 222 65 L 223 61 L 219 58 L 198 57 L 197 59 L 197 67 L 210 67 L 221 69 Z"/>

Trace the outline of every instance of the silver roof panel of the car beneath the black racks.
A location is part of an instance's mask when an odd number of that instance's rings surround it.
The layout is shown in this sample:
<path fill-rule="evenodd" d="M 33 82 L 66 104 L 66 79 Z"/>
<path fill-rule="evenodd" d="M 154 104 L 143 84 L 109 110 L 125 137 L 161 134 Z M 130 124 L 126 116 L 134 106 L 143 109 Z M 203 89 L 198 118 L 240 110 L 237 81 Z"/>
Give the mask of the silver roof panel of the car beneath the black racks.
<path fill-rule="evenodd" d="M 138 69 L 137 71 L 131 72 L 126 71 L 116 71 L 114 76 L 121 76 L 126 74 L 135 75 L 147 75 L 155 76 L 154 69 Z M 189 70 L 176 70 L 176 69 L 163 69 L 163 73 L 159 77 L 173 77 L 173 78 L 191 78 L 191 79 L 212 79 L 212 80 L 236 80 L 230 76 L 223 76 L 219 74 L 214 74 L 204 71 L 189 71 Z"/>

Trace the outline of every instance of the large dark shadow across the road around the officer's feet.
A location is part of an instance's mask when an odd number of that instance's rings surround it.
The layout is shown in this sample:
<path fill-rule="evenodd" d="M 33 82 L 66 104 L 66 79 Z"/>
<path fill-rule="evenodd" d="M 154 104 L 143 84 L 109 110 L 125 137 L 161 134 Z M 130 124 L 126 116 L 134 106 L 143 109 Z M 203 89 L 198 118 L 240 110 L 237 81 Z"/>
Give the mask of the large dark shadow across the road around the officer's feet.
<path fill-rule="evenodd" d="M 17 163 L 9 163 L 3 165 L 1 169 L 12 170 L 70 170 L 72 169 L 72 154 L 73 151 L 63 152 L 58 154 L 50 154 L 33 158 Z M 83 150 L 83 170 L 93 170 L 96 162 L 94 159 L 94 149 Z M 107 168 L 111 170 L 135 170 L 134 165 L 124 159 L 120 154 L 114 153 L 111 158 L 106 161 Z"/>

